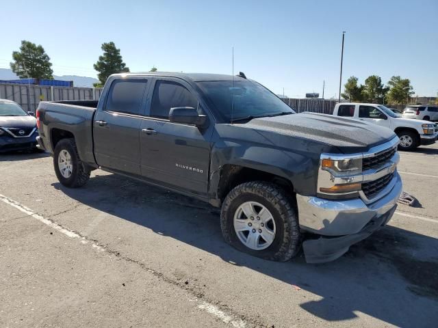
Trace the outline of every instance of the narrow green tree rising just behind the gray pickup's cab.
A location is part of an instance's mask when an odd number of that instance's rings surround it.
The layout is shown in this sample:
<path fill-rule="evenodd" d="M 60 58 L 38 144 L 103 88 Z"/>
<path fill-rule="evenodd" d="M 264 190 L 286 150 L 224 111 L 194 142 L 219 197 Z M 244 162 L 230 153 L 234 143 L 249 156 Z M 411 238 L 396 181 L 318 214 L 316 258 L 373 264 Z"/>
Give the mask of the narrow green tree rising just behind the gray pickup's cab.
<path fill-rule="evenodd" d="M 97 77 L 101 85 L 105 84 L 111 74 L 129 72 L 129 68 L 120 55 L 120 49 L 116 48 L 114 42 L 103 43 L 101 49 L 103 55 L 99 56 L 99 60 L 93 65 L 94 70 L 99 72 Z"/>

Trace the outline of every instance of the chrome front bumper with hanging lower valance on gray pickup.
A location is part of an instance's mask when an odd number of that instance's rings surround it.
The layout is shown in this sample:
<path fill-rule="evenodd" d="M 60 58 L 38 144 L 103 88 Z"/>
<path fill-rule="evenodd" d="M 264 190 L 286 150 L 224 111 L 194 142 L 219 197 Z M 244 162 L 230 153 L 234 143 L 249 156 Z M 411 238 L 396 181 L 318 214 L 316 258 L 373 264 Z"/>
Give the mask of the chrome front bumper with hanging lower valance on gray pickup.
<path fill-rule="evenodd" d="M 391 219 L 402 193 L 402 180 L 394 174 L 394 187 L 372 204 L 355 200 L 324 200 L 297 195 L 300 228 L 319 235 L 302 243 L 306 262 L 322 263 L 342 256 L 351 245 L 367 238 Z"/>

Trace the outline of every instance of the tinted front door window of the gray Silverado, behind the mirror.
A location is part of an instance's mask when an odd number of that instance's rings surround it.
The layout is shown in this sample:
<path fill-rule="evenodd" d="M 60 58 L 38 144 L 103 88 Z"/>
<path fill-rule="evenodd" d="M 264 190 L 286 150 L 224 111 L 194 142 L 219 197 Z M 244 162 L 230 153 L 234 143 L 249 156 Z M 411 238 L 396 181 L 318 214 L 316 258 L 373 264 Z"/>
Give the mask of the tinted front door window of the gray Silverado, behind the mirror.
<path fill-rule="evenodd" d="M 169 118 L 172 107 L 198 107 L 198 100 L 181 84 L 172 81 L 157 81 L 153 90 L 151 116 Z"/>

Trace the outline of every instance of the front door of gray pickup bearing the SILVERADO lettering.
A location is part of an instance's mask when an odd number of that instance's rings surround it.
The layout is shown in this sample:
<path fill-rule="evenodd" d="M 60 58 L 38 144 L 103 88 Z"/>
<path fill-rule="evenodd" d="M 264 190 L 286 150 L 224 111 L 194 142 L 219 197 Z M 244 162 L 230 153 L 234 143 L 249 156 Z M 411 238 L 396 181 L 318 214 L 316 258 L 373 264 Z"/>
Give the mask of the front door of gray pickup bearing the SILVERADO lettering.
<path fill-rule="evenodd" d="M 213 124 L 199 129 L 189 124 L 171 123 L 168 120 L 170 108 L 198 108 L 197 94 L 181 79 L 157 77 L 153 84 L 153 91 L 149 92 L 152 94 L 149 113 L 140 126 L 142 176 L 180 191 L 205 196 Z"/>

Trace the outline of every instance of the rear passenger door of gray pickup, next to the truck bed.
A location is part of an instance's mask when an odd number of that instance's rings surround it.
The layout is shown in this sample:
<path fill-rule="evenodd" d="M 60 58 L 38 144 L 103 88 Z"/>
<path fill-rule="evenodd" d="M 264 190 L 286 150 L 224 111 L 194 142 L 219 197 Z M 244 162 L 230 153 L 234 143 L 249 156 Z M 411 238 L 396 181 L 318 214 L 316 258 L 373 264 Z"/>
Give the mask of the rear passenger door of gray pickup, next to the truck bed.
<path fill-rule="evenodd" d="M 140 175 L 140 124 L 146 79 L 116 79 L 93 122 L 94 156 L 102 167 Z"/>

